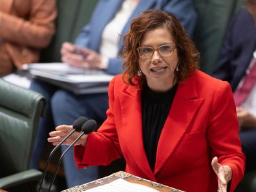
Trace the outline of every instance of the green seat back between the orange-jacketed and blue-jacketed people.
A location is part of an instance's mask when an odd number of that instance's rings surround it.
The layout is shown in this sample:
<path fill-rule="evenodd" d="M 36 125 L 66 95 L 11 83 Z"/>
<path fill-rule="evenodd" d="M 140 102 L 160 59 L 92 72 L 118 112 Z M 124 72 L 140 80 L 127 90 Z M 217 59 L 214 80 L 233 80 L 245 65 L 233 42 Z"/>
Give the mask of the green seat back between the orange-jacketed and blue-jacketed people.
<path fill-rule="evenodd" d="M 58 0 L 56 34 L 49 47 L 41 53 L 41 62 L 60 62 L 60 49 L 65 41 L 74 42 L 81 28 L 89 22 L 98 0 Z"/>

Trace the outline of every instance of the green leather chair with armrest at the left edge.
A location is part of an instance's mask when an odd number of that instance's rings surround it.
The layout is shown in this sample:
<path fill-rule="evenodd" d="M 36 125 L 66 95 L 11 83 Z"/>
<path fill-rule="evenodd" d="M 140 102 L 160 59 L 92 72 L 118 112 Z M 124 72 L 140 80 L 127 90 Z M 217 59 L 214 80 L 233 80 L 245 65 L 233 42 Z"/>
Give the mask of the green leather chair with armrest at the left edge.
<path fill-rule="evenodd" d="M 45 98 L 0 78 L 0 188 L 36 191 L 42 173 L 28 169 Z"/>

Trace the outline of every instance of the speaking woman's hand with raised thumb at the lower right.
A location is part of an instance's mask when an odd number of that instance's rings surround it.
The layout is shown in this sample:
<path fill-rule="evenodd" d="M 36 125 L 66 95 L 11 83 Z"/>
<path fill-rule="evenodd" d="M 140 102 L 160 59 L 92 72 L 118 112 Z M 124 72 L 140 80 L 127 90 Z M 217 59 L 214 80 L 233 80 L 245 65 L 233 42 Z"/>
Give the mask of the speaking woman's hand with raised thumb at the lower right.
<path fill-rule="evenodd" d="M 232 178 L 232 169 L 228 165 L 221 165 L 218 163 L 218 158 L 215 156 L 211 161 L 213 171 L 218 176 L 219 192 L 227 192 L 228 182 Z"/>

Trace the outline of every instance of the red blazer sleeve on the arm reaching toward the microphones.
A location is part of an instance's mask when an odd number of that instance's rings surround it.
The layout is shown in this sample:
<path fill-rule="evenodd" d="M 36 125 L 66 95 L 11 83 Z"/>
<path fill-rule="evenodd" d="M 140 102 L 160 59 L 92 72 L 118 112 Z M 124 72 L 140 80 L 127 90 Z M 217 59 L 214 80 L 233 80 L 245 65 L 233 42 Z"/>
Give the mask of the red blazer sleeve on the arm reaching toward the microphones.
<path fill-rule="evenodd" d="M 85 147 L 74 146 L 74 159 L 78 168 L 89 165 L 109 165 L 113 160 L 122 157 L 113 114 L 115 80 L 116 77 L 109 83 L 107 120 L 103 122 L 97 132 L 89 134 Z"/>

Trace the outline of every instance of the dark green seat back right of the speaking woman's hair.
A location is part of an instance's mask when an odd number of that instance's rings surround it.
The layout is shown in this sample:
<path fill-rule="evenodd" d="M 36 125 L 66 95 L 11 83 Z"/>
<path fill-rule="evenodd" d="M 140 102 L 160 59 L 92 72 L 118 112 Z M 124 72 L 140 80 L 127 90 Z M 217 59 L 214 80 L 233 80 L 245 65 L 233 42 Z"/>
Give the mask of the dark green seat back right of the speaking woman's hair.
<path fill-rule="evenodd" d="M 198 14 L 195 42 L 201 53 L 200 69 L 211 73 L 219 57 L 226 29 L 244 0 L 194 0 Z"/>

